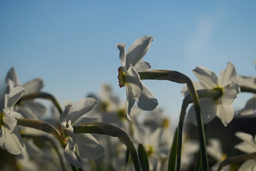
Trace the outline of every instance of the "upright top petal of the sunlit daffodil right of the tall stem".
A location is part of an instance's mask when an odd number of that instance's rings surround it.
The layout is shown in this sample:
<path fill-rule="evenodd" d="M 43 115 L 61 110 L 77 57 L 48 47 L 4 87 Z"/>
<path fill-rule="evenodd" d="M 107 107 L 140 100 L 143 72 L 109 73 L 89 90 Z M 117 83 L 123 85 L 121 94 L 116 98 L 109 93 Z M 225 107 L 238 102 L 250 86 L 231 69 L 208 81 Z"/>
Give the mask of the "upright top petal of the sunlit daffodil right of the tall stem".
<path fill-rule="evenodd" d="M 219 84 L 221 87 L 230 84 L 232 81 L 235 80 L 236 72 L 234 65 L 228 63 L 227 68 L 224 71 L 221 71 L 219 74 Z"/>

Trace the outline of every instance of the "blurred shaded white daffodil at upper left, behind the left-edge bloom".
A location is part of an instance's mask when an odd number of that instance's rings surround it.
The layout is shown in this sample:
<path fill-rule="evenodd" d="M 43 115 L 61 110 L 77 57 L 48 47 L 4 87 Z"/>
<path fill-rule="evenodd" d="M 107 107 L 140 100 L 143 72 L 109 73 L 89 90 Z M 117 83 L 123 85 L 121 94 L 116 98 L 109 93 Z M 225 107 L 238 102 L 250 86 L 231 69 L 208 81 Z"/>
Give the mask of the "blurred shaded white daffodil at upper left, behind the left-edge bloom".
<path fill-rule="evenodd" d="M 15 86 L 22 85 L 14 67 L 8 71 L 5 81 L 8 86 L 7 92 Z M 28 95 L 39 92 L 43 88 L 44 84 L 43 80 L 35 78 L 22 86 L 25 89 L 23 95 Z M 23 101 L 22 104 L 16 105 L 15 110 L 21 113 L 24 118 L 38 119 L 38 117 L 42 117 L 46 114 L 47 108 L 42 103 L 35 100 L 26 100 Z"/>

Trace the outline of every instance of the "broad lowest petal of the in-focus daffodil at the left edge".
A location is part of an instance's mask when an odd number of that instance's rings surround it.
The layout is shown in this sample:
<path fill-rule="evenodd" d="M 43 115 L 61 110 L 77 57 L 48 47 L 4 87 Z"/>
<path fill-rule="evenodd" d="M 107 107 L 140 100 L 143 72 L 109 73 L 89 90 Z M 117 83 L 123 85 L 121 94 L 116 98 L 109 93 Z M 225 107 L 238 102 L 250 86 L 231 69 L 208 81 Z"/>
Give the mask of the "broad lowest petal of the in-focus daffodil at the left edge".
<path fill-rule="evenodd" d="M 15 128 L 13 133 L 11 133 L 11 131 L 7 128 L 5 128 L 4 131 L 5 149 L 12 154 L 20 154 L 23 148 L 23 140 L 21 135 L 19 134 L 18 128 Z"/>

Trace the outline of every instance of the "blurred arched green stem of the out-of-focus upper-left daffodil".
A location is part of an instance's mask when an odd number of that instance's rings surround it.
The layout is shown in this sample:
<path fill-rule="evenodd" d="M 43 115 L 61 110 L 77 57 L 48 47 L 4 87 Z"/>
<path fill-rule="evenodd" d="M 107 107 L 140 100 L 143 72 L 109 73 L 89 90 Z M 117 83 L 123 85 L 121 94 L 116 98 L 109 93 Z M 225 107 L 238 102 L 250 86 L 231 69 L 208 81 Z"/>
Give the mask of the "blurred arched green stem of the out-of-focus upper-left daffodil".
<path fill-rule="evenodd" d="M 42 98 L 42 99 L 50 100 L 53 103 L 53 105 L 55 107 L 57 107 L 60 114 L 62 113 L 63 110 L 62 110 L 62 107 L 61 107 L 59 101 L 53 95 L 46 93 L 46 92 L 31 93 L 31 94 L 25 95 L 19 100 L 19 102 L 23 101 L 23 100 L 31 100 L 31 99 L 35 99 L 35 98 Z"/>

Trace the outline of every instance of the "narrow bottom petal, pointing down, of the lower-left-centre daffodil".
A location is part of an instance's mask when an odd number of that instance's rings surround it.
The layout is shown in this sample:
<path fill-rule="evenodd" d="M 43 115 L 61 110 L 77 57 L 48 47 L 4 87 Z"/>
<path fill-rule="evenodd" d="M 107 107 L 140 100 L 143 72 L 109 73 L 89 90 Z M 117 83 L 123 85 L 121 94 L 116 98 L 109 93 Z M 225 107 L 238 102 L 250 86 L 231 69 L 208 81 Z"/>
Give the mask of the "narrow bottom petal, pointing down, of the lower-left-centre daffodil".
<path fill-rule="evenodd" d="M 67 160 L 74 165 L 77 168 L 82 168 L 82 164 L 78 160 L 76 154 L 75 154 L 75 147 L 70 145 L 70 142 L 68 141 L 66 148 L 64 149 L 64 154 Z"/>

